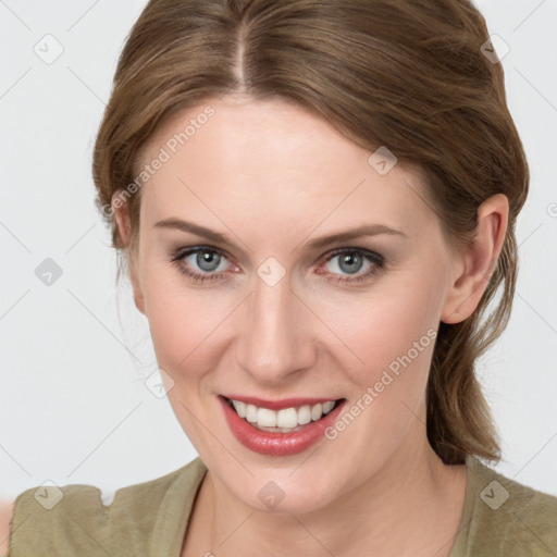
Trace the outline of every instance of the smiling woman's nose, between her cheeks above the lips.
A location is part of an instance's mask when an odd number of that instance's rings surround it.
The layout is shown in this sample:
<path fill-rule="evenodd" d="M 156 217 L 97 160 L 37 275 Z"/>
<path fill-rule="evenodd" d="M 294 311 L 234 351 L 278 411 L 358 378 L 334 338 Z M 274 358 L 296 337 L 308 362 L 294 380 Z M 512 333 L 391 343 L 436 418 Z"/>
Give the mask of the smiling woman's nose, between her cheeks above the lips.
<path fill-rule="evenodd" d="M 288 278 L 271 286 L 256 276 L 238 324 L 238 366 L 268 386 L 288 382 L 311 368 L 315 357 L 312 314 Z"/>

